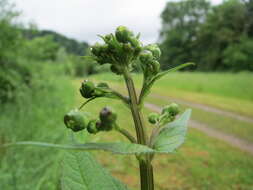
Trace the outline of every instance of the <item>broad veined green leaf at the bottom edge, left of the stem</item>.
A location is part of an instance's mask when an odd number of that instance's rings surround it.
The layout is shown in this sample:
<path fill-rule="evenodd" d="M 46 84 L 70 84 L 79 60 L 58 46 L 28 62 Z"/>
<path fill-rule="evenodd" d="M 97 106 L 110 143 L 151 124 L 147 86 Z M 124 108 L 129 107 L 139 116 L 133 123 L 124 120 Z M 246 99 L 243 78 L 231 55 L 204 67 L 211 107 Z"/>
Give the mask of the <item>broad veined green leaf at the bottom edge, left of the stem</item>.
<path fill-rule="evenodd" d="M 67 152 L 62 165 L 63 190 L 127 190 L 87 152 Z"/>

